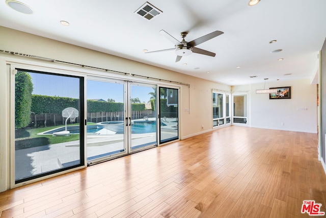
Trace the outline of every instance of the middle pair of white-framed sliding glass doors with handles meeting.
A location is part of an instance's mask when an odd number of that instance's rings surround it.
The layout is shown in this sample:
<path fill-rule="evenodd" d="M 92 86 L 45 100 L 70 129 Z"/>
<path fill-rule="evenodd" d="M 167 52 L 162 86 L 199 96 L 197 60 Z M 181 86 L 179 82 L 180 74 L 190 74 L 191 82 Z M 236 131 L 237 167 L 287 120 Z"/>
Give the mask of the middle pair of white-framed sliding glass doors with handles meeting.
<path fill-rule="evenodd" d="M 87 161 L 93 164 L 157 146 L 156 86 L 87 80 Z"/>

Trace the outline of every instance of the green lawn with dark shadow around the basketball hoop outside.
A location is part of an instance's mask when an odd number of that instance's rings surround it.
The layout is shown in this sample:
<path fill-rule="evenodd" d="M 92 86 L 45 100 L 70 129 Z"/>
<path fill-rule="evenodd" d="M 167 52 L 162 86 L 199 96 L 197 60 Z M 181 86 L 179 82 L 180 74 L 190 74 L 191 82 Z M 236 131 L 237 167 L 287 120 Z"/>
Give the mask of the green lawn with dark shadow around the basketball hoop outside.
<path fill-rule="evenodd" d="M 92 125 L 94 123 L 87 123 Z M 68 126 L 76 126 L 78 124 L 71 124 Z M 48 146 L 49 144 L 57 144 L 68 141 L 79 140 L 79 134 L 71 134 L 67 136 L 56 136 L 52 135 L 37 135 L 38 133 L 45 132 L 58 127 L 64 127 L 65 125 L 55 127 L 42 127 L 32 129 L 18 129 L 15 130 L 15 150 L 34 148 L 39 146 Z"/>

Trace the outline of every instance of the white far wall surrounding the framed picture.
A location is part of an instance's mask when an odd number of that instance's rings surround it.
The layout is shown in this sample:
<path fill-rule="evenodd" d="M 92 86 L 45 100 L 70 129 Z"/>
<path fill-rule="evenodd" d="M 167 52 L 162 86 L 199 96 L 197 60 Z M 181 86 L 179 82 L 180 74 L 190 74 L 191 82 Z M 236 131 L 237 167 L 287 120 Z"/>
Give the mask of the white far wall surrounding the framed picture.
<path fill-rule="evenodd" d="M 283 86 L 291 86 L 291 99 L 270 100 L 269 94 L 256 94 L 264 83 L 234 86 L 232 92 L 249 91 L 251 127 L 317 133 L 316 84 L 310 79 L 266 82 L 266 88 Z"/>

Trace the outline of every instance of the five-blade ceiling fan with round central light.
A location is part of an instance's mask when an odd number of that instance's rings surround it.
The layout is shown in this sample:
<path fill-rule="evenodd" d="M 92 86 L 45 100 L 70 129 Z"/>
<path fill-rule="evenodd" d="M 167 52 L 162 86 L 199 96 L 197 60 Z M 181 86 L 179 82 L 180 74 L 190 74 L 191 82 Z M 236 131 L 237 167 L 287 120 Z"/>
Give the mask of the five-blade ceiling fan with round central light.
<path fill-rule="evenodd" d="M 173 49 L 164 49 L 164 50 L 158 50 L 158 51 L 152 51 L 152 52 L 146 52 L 146 53 L 154 53 L 154 52 L 166 52 L 166 51 L 172 51 L 175 50 L 175 53 L 177 54 L 177 58 L 175 62 L 178 62 L 181 60 L 182 56 L 187 56 L 191 55 L 192 53 L 197 53 L 201 55 L 208 55 L 211 57 L 215 57 L 215 53 L 199 49 L 198 47 L 195 47 L 196 45 L 199 45 L 205 41 L 208 41 L 216 36 L 222 35 L 223 32 L 221 31 L 214 31 L 212 33 L 209 33 L 205 36 L 199 37 L 197 39 L 194 39 L 193 41 L 187 42 L 184 40 L 186 35 L 188 34 L 187 32 L 182 32 L 180 33 L 182 37 L 182 41 L 180 42 L 173 36 L 171 36 L 169 33 L 167 33 L 164 30 L 159 31 L 159 33 L 163 36 L 165 36 L 168 40 L 170 40 L 172 43 L 174 43 L 174 48 Z"/>

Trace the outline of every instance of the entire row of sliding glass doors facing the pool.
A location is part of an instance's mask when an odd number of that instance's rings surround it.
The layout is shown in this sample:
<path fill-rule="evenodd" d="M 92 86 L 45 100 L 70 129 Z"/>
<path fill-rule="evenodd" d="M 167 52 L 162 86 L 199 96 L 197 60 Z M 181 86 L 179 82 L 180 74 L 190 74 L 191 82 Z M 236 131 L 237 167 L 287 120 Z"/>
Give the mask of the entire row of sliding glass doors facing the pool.
<path fill-rule="evenodd" d="M 178 88 L 61 73 L 11 77 L 13 185 L 179 138 Z"/>

